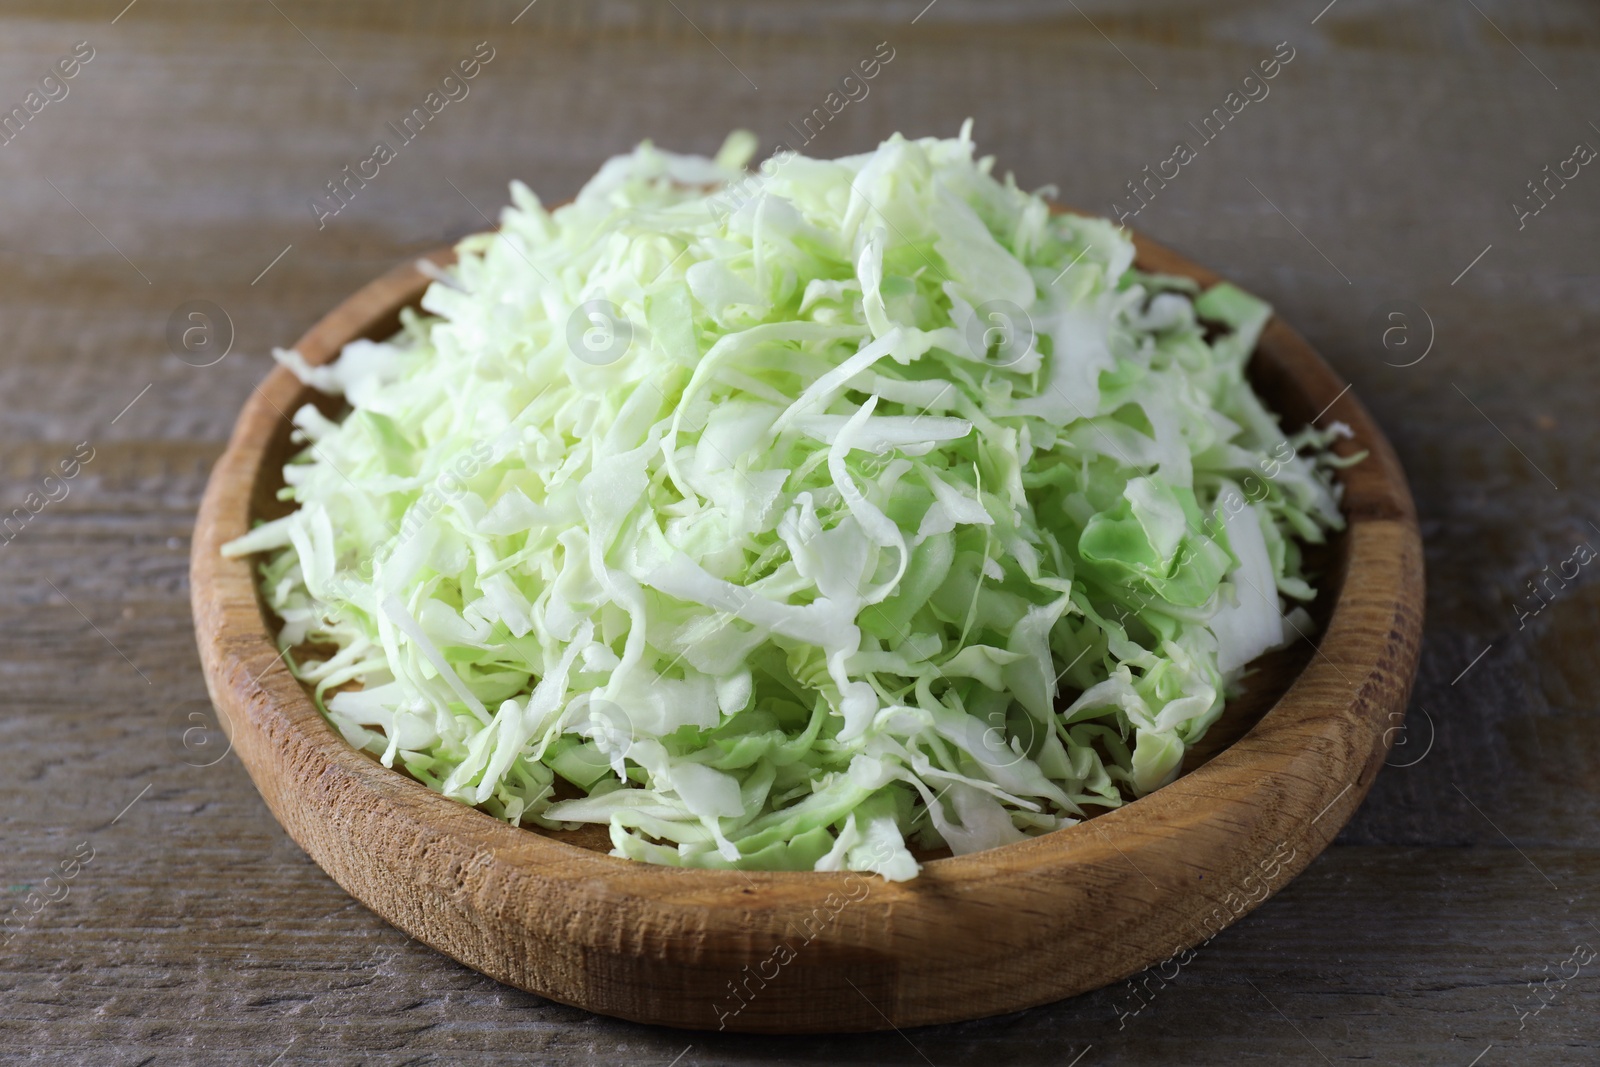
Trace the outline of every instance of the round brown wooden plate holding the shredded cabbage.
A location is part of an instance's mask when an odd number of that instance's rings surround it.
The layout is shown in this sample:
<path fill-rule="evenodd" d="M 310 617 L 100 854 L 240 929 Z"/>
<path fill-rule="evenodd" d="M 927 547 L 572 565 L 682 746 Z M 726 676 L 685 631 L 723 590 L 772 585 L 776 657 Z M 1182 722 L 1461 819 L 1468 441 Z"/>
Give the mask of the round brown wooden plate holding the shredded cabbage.
<path fill-rule="evenodd" d="M 1218 282 L 1138 248 L 1146 270 Z M 296 347 L 323 363 L 347 341 L 386 338 L 426 286 L 413 264 L 397 267 Z M 640 1022 L 755 1032 L 912 1027 L 1059 1000 L 1197 945 L 1280 889 L 1360 805 L 1405 712 L 1422 627 L 1405 474 L 1278 318 L 1251 378 L 1285 426 L 1326 408 L 1323 426 L 1355 432 L 1341 450 L 1370 451 L 1341 475 L 1349 530 L 1328 553 L 1315 648 L 1277 654 L 1171 785 L 1045 837 L 934 859 L 909 883 L 616 859 L 603 835 L 507 825 L 350 749 L 277 662 L 258 560 L 219 555 L 253 518 L 283 512 L 288 416 L 317 395 L 282 368 L 245 406 L 200 507 L 190 579 L 206 685 L 272 813 L 334 881 L 510 985 Z M 1221 741 L 1232 744 L 1214 752 Z"/>

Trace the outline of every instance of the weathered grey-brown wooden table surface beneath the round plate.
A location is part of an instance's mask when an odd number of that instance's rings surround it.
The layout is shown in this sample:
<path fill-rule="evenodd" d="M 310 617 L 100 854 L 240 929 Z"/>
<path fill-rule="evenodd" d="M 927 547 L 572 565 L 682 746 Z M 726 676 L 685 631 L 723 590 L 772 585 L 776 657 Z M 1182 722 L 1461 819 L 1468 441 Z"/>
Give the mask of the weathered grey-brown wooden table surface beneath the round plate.
<path fill-rule="evenodd" d="M 1578 961 L 1600 947 L 1600 582 L 1547 577 L 1600 544 L 1600 174 L 1550 179 L 1547 203 L 1526 187 L 1600 146 L 1592 5 L 523 2 L 0 14 L 0 115 L 93 50 L 0 144 L 0 510 L 27 518 L 0 542 L 0 912 L 19 909 L 0 1059 L 1600 1062 L 1600 960 Z M 480 42 L 470 94 L 318 229 L 325 182 Z M 731 1038 L 496 985 L 350 901 L 224 755 L 186 589 L 206 470 L 270 346 L 482 227 L 509 179 L 560 200 L 642 138 L 709 152 L 742 125 L 771 146 L 880 42 L 893 59 L 808 152 L 973 115 L 1002 170 L 1106 213 L 1293 48 L 1128 221 L 1272 299 L 1406 462 L 1430 601 L 1405 745 L 1338 846 L 1136 1016 L 1122 985 L 955 1027 Z M 195 301 L 226 318 L 171 346 L 174 322 L 205 326 Z"/>

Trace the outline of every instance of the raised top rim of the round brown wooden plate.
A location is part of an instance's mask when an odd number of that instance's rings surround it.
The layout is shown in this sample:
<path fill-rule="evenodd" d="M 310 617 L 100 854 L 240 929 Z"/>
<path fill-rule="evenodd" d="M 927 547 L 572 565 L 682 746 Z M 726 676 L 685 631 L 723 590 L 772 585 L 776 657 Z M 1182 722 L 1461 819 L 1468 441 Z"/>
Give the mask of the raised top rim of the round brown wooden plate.
<path fill-rule="evenodd" d="M 1136 235 L 1134 240 L 1141 269 L 1182 274 L 1202 286 L 1221 280 L 1147 238 Z M 445 264 L 453 256 L 453 250 L 442 250 L 427 258 Z M 390 322 L 398 307 L 414 306 L 427 285 L 414 262 L 392 269 L 339 304 L 301 338 L 296 349 L 310 362 L 330 358 L 344 342 L 366 336 L 378 323 Z M 910 883 L 874 880 L 875 912 L 890 917 L 896 907 L 914 905 L 934 885 L 942 896 L 966 899 L 968 894 L 992 894 L 997 886 L 1005 885 L 1066 885 L 1074 870 L 1085 865 L 1120 862 L 1138 869 L 1138 861 L 1155 843 L 1202 825 L 1208 827 L 1208 833 L 1221 835 L 1216 840 L 1227 840 L 1229 848 L 1240 854 L 1259 848 L 1261 841 L 1274 835 L 1302 840 L 1309 854 L 1296 849 L 1299 859 L 1290 864 L 1298 872 L 1354 814 L 1384 760 L 1398 721 L 1397 712 L 1403 712 L 1416 667 L 1422 590 L 1416 515 L 1403 470 L 1382 432 L 1299 334 L 1274 317 L 1254 358 L 1266 358 L 1293 379 L 1304 400 L 1302 406 L 1307 408 L 1299 413 L 1302 421 L 1310 410 L 1326 406 L 1326 416 L 1346 422 L 1354 430 L 1355 443 L 1370 450 L 1366 461 L 1341 475 L 1349 522 L 1347 566 L 1317 654 L 1246 736 L 1171 785 L 1042 837 L 930 861 Z M 224 558 L 219 552 L 224 542 L 248 530 L 250 488 L 261 474 L 274 435 L 283 432 L 286 416 L 293 414 L 291 405 L 301 394 L 301 382 L 278 366 L 250 397 L 206 486 L 190 561 L 197 637 L 206 681 L 224 728 L 258 789 L 285 829 L 341 885 L 408 933 L 494 977 L 558 1000 L 570 997 L 570 1003 L 645 1021 L 701 1025 L 661 1013 L 629 1013 L 610 1001 L 586 1001 L 565 985 L 554 989 L 552 982 L 534 982 L 509 965 L 496 963 L 491 958 L 493 949 L 464 947 L 456 936 L 435 937 L 429 921 L 398 913 L 400 909 L 381 889 L 365 883 L 352 888 L 360 878 L 330 856 L 334 838 L 357 840 L 390 827 L 410 840 L 427 841 L 427 851 L 434 853 L 429 857 L 432 870 L 422 870 L 421 864 L 408 870 L 410 861 L 402 857 L 390 875 L 437 881 L 442 877 L 437 872 L 448 869 L 451 873 L 445 877 L 445 883 L 450 885 L 435 886 L 445 897 L 464 899 L 462 894 L 470 896 L 486 880 L 506 891 L 538 891 L 557 897 L 568 894 L 574 901 L 582 894 L 590 899 L 598 894 L 605 907 L 613 909 L 624 901 L 648 901 L 654 907 L 686 909 L 685 913 L 693 912 L 696 923 L 725 928 L 730 936 L 747 934 L 757 909 L 771 915 L 803 913 L 821 894 L 843 893 L 853 885 L 851 878 L 862 877 L 850 872 L 694 870 L 594 853 L 509 825 L 450 800 L 350 747 L 317 712 L 288 669 L 274 669 L 280 653 L 261 614 L 258 558 Z M 1411 558 L 1416 560 L 1414 566 L 1410 565 Z M 1352 614 L 1350 577 L 1366 571 L 1387 576 L 1382 577 L 1389 585 L 1386 590 L 1363 592 L 1366 600 L 1362 611 L 1387 619 L 1381 627 L 1354 625 L 1346 617 Z M 254 622 L 250 624 L 250 619 Z M 1334 779 L 1328 776 L 1328 769 L 1334 766 L 1355 769 L 1357 774 L 1349 781 Z M 285 777 L 296 774 L 318 781 L 304 785 Z M 1302 779 L 1299 785 L 1306 789 L 1293 795 L 1280 790 L 1269 797 L 1270 790 L 1264 784 L 1272 776 L 1283 774 Z M 326 825 L 320 825 L 318 819 L 298 809 L 298 801 L 291 803 L 294 790 L 304 793 L 307 789 L 325 790 L 326 795 L 333 795 L 328 790 L 344 790 L 347 797 L 363 798 L 366 809 L 331 805 L 320 813 L 326 819 Z M 1258 803 L 1269 798 L 1272 805 Z M 1238 819 L 1242 811 L 1254 811 L 1258 822 L 1245 827 L 1250 821 Z M 1229 827 L 1235 821 L 1240 829 L 1229 837 Z M 389 861 L 370 857 L 368 862 L 387 865 Z M 1154 894 L 1147 904 L 1160 907 L 1170 888 L 1163 889 L 1150 878 L 1146 881 Z M 558 912 L 560 909 L 541 909 L 525 920 L 539 926 L 544 936 L 565 936 Z M 893 952 L 891 933 L 878 936 L 864 928 L 853 929 L 851 937 L 864 941 L 867 950 Z M 590 936 L 589 941 L 595 942 L 595 937 Z M 1141 952 L 1130 953 L 1130 960 L 1144 960 L 1139 963 L 1142 966 L 1152 961 L 1146 958 L 1150 952 L 1146 945 Z M 1158 960 L 1160 955 L 1154 958 Z M 1130 965 L 1126 969 L 1138 966 Z M 1059 995 L 1062 993 L 1058 990 L 1035 1000 L 1013 998 L 1005 1001 L 1011 1006 L 1000 1008 L 957 1005 L 931 1014 L 907 1009 L 896 1016 L 896 1024 L 973 1017 L 1045 1003 Z M 838 1029 L 877 1025 L 870 1017 L 843 1019 L 842 1024 Z"/>

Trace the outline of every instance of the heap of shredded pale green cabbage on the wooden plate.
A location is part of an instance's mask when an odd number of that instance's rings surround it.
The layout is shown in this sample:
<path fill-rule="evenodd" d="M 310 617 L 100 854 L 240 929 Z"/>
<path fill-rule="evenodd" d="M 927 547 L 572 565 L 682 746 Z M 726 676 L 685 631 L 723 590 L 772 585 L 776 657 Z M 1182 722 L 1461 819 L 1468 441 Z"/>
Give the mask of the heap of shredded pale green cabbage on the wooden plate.
<path fill-rule="evenodd" d="M 1267 306 L 970 125 L 752 150 L 514 184 L 395 338 L 277 352 L 350 408 L 226 549 L 294 672 L 386 766 L 683 867 L 904 880 L 1171 781 L 1341 526 L 1333 432 L 1245 381 Z"/>

